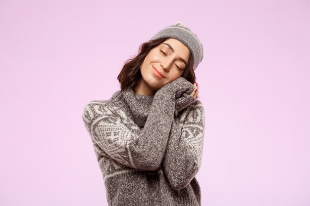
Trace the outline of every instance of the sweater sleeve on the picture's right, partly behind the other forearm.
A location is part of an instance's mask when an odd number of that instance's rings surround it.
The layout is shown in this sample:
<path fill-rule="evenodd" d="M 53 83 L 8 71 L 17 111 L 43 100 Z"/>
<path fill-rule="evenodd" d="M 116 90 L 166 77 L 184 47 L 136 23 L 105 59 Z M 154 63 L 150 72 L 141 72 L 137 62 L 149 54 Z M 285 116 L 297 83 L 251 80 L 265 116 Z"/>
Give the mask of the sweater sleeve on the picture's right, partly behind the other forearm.
<path fill-rule="evenodd" d="M 170 135 L 162 166 L 175 190 L 185 188 L 197 174 L 202 159 L 205 112 L 201 101 L 189 106 L 180 135 Z"/>

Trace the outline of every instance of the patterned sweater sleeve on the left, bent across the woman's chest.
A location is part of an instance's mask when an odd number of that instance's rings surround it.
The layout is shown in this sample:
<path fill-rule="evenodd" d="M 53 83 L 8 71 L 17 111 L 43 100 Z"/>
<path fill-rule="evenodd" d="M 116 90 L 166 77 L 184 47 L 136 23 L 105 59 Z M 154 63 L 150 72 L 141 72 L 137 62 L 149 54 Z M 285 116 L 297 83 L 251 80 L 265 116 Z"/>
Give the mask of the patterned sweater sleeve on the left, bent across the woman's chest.
<path fill-rule="evenodd" d="M 148 119 L 140 132 L 129 129 L 128 124 L 124 124 L 130 122 L 128 117 L 115 115 L 105 101 L 89 102 L 84 108 L 83 121 L 93 143 L 122 165 L 156 170 L 166 150 L 175 108 L 173 96 L 166 93 L 156 92 Z"/>

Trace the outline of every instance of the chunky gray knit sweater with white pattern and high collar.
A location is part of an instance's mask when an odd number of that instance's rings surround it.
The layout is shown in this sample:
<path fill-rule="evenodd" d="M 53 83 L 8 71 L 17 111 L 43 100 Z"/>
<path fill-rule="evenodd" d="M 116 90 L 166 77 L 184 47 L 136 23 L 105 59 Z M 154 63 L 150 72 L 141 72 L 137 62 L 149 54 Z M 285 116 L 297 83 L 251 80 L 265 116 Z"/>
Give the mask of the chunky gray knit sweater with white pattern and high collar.
<path fill-rule="evenodd" d="M 86 105 L 109 206 L 201 206 L 205 114 L 193 89 L 180 77 L 154 96 L 119 90 Z"/>

